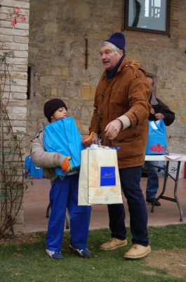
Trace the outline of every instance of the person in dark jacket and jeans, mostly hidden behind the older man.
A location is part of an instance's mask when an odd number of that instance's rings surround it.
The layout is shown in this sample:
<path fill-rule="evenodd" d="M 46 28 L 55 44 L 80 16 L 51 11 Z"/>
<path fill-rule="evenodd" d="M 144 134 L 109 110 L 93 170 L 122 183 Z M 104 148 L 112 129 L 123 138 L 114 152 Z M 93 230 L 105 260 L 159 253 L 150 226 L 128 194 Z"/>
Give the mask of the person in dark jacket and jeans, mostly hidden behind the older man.
<path fill-rule="evenodd" d="M 152 109 L 150 111 L 149 121 L 159 121 L 160 119 L 164 120 L 166 126 L 171 125 L 175 119 L 175 113 L 171 111 L 166 104 L 161 100 L 157 99 L 152 91 L 154 90 L 154 80 L 150 77 L 147 77 L 147 81 L 150 85 L 150 104 Z M 158 161 L 145 161 L 147 164 L 148 178 L 147 178 L 147 188 L 146 188 L 146 202 L 153 204 L 156 200 L 157 190 L 159 188 L 159 177 L 158 177 L 158 168 L 153 166 L 148 166 L 152 164 L 158 166 Z M 156 206 L 161 206 L 161 203 L 158 201 Z"/>

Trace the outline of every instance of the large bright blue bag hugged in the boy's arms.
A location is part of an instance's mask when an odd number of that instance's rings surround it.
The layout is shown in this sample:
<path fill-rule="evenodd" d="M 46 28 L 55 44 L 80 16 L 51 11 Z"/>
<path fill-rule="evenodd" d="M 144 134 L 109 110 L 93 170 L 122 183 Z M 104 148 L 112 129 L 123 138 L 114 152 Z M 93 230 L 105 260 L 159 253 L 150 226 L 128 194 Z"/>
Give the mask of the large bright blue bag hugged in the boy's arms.
<path fill-rule="evenodd" d="M 62 118 L 44 128 L 44 147 L 47 152 L 58 152 L 63 157 L 71 157 L 72 171 L 79 171 L 81 151 L 85 149 L 74 118 Z M 70 172 L 72 172 L 70 171 Z M 67 176 L 60 167 L 55 168 L 57 176 Z"/>

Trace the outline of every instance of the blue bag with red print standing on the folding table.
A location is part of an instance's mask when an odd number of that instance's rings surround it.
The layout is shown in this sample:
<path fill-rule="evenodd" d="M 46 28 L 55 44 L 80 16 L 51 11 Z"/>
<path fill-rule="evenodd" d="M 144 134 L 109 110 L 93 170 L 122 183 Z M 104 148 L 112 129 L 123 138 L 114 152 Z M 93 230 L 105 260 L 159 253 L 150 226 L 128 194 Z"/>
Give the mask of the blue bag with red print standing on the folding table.
<path fill-rule="evenodd" d="M 149 134 L 145 154 L 166 154 L 166 125 L 164 120 L 148 121 Z"/>

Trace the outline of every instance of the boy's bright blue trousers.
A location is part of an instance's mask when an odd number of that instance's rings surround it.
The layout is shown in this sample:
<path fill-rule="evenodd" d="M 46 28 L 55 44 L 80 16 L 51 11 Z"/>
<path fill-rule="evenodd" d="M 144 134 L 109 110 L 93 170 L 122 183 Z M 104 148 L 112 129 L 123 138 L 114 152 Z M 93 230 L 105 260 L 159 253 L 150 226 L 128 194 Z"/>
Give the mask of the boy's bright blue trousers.
<path fill-rule="evenodd" d="M 49 194 L 51 215 L 48 221 L 46 249 L 60 252 L 65 228 L 66 209 L 70 216 L 70 245 L 75 249 L 85 249 L 91 220 L 91 207 L 78 206 L 79 173 L 56 178 Z"/>

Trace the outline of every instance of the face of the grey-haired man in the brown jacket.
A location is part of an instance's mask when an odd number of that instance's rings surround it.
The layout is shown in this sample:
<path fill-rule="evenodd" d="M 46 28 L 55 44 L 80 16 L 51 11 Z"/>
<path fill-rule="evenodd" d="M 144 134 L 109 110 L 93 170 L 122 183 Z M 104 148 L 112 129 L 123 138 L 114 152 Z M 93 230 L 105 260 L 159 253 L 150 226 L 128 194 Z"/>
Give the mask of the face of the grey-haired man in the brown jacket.
<path fill-rule="evenodd" d="M 112 71 L 123 54 L 124 53 L 122 50 L 120 50 L 118 54 L 114 54 L 114 51 L 112 50 L 112 44 L 102 46 L 100 48 L 100 56 L 102 65 L 104 66 L 105 70 Z"/>

